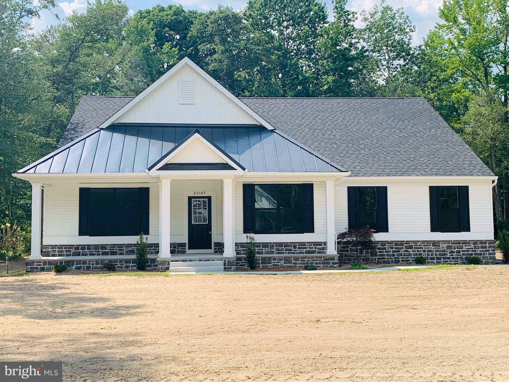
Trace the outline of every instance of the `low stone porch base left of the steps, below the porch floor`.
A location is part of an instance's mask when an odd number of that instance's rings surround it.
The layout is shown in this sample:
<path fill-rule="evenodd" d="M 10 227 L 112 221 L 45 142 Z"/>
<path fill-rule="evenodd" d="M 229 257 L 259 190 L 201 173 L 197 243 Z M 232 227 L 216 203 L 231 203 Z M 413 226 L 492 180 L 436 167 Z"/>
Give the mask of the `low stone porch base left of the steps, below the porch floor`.
<path fill-rule="evenodd" d="M 109 260 L 26 260 L 26 272 L 41 272 L 53 270 L 53 265 L 65 265 L 69 269 L 103 269 L 103 265 L 107 262 L 115 264 L 117 269 L 136 268 L 135 259 L 109 259 Z M 157 266 L 156 259 L 149 259 L 147 268 L 155 268 Z"/>

